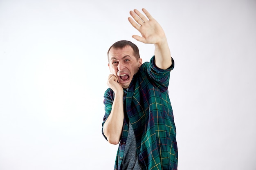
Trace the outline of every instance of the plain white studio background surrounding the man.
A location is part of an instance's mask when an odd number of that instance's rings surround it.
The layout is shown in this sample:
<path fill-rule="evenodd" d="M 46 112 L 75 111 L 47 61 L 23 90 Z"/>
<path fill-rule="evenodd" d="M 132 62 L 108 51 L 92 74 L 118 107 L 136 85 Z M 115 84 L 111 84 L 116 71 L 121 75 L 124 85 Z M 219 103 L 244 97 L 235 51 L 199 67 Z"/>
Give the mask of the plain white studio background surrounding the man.
<path fill-rule="evenodd" d="M 101 135 L 108 48 L 162 25 L 180 170 L 256 170 L 255 0 L 0 0 L 0 170 L 111 170 Z"/>

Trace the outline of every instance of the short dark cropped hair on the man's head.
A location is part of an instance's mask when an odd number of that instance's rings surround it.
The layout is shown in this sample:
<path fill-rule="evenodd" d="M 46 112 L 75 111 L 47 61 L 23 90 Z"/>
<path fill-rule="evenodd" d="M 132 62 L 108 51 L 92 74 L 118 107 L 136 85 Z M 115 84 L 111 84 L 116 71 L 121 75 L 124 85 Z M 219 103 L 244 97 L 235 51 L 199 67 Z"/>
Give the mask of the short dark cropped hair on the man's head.
<path fill-rule="evenodd" d="M 133 55 L 137 58 L 137 60 L 139 60 L 139 49 L 138 47 L 133 44 L 132 42 L 130 41 L 127 41 L 127 40 L 120 40 L 120 41 L 117 41 L 115 42 L 112 46 L 110 46 L 110 48 L 108 49 L 108 53 L 110 51 L 111 48 L 113 49 L 123 49 L 124 47 L 126 46 L 130 46 L 132 47 L 133 49 Z M 109 55 L 108 55 L 108 61 L 109 61 Z"/>

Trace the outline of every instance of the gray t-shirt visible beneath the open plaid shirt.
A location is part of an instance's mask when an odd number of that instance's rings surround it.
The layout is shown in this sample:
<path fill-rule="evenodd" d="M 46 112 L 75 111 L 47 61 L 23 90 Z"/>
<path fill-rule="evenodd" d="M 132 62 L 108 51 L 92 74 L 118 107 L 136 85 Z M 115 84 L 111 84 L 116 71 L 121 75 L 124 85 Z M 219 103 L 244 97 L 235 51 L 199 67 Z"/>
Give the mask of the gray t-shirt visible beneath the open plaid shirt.
<path fill-rule="evenodd" d="M 132 129 L 132 125 L 129 122 L 128 137 L 126 141 L 126 146 L 124 150 L 123 159 L 123 170 L 142 170 L 139 164 L 138 155 L 136 152 L 136 139 Z"/>

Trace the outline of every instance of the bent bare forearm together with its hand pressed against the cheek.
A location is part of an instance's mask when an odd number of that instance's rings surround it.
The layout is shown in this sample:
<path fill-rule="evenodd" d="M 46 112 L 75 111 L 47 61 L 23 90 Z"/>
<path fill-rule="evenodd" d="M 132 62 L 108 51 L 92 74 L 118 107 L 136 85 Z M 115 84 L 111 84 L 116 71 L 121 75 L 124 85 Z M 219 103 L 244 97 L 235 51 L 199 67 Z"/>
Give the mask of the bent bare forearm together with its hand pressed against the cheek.
<path fill-rule="evenodd" d="M 103 125 L 103 133 L 110 144 L 119 144 L 124 124 L 124 91 L 114 75 L 109 75 L 108 86 L 114 91 L 115 98 L 111 113 Z"/>

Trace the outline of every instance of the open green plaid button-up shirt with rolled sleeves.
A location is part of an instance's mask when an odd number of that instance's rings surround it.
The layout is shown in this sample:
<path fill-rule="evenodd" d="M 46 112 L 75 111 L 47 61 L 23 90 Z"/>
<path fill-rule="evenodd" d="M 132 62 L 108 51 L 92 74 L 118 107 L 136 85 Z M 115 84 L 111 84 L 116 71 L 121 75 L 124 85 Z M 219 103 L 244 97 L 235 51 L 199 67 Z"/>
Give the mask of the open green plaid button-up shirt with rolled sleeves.
<path fill-rule="evenodd" d="M 157 68 L 155 57 L 145 62 L 133 78 L 126 94 L 124 126 L 117 151 L 115 170 L 122 170 L 129 121 L 135 133 L 137 155 L 145 170 L 177 170 L 178 152 L 173 110 L 168 95 L 172 66 Z M 108 88 L 104 94 L 104 125 L 110 115 L 115 94 Z M 102 128 L 103 133 L 103 128 Z M 105 137 L 105 135 L 103 134 Z M 105 137 L 106 138 L 106 137 Z"/>

